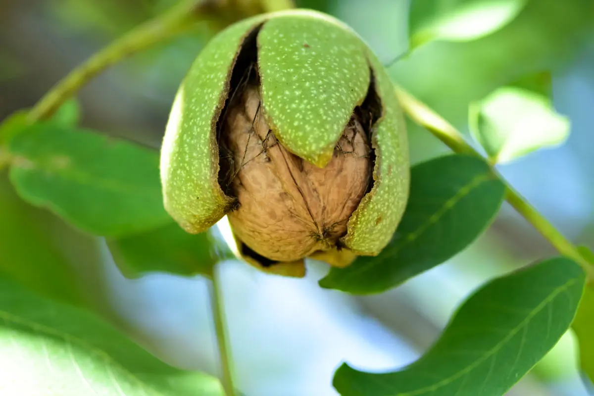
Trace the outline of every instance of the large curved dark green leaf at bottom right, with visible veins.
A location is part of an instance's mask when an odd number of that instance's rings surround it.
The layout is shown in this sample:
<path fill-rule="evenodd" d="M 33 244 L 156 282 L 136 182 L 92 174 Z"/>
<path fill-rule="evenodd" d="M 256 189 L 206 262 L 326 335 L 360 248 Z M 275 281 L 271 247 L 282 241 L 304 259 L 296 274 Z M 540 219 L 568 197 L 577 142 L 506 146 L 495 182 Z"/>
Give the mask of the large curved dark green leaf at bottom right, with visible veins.
<path fill-rule="evenodd" d="M 343 396 L 501 396 L 570 326 L 585 280 L 567 258 L 492 280 L 463 303 L 421 359 L 383 374 L 342 365 L 334 387 Z"/>

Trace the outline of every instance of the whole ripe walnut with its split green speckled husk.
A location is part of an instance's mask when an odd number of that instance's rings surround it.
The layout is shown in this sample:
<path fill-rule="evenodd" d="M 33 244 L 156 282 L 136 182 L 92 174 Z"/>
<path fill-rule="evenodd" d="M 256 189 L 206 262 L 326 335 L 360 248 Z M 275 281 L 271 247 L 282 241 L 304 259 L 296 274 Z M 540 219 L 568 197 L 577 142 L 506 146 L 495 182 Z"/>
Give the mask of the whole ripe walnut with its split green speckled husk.
<path fill-rule="evenodd" d="M 162 147 L 165 208 L 187 232 L 228 215 L 241 255 L 302 276 L 304 258 L 377 255 L 402 217 L 407 141 L 391 82 L 339 21 L 242 21 L 198 55 Z"/>

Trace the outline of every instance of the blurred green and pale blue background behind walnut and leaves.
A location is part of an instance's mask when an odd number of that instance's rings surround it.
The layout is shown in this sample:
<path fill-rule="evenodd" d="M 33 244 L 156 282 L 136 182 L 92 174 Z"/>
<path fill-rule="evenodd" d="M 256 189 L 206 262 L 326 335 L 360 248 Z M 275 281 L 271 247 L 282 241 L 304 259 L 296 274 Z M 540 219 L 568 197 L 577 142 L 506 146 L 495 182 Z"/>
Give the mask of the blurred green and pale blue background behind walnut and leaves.
<path fill-rule="evenodd" d="M 173 3 L 0 0 L 0 120 L 31 106 L 97 49 Z M 594 245 L 594 2 L 529 0 L 510 23 L 485 37 L 432 42 L 396 62 L 408 49 L 408 0 L 297 4 L 350 24 L 391 64 L 394 81 L 466 132 L 469 103 L 527 74 L 552 72 L 554 105 L 571 119 L 570 138 L 500 170 L 565 235 Z M 158 148 L 177 85 L 212 33 L 199 26 L 97 77 L 78 96 L 83 125 Z M 412 124 L 409 137 L 413 163 L 448 151 Z M 83 285 L 99 311 L 167 362 L 217 375 L 205 280 L 168 274 L 129 280 L 113 264 L 103 240 L 81 235 L 17 201 L 5 173 L 0 175 L 0 198 L 27 218 L 23 235 L 34 229 L 52 236 L 71 262 L 68 276 Z M 0 223 L 0 236 L 12 232 Z M 13 237 L 11 243 L 28 246 L 26 237 Z M 307 278 L 293 280 L 225 262 L 237 385 L 247 396 L 336 395 L 331 378 L 340 363 L 380 372 L 412 362 L 472 290 L 551 254 L 545 240 L 505 206 L 491 229 L 465 252 L 375 296 L 320 289 L 317 280 L 327 271 L 321 263 L 311 262 Z M 0 254 L 0 267 L 1 260 Z M 62 276 L 50 262 L 46 273 Z M 27 281 L 43 283 L 43 276 Z M 568 333 L 510 395 L 587 395 L 576 359 Z"/>

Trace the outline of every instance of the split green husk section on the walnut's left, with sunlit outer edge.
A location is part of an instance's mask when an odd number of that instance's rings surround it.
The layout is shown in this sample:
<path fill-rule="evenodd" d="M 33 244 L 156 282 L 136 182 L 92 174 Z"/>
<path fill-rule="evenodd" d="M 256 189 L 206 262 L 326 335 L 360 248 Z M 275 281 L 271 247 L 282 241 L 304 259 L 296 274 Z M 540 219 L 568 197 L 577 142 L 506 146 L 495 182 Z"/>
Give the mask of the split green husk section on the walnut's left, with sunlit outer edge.
<path fill-rule="evenodd" d="M 214 37 L 176 94 L 161 149 L 161 182 L 165 209 L 189 233 L 206 231 L 235 202 L 217 180 L 216 125 L 242 43 L 263 20 L 242 21 Z"/>

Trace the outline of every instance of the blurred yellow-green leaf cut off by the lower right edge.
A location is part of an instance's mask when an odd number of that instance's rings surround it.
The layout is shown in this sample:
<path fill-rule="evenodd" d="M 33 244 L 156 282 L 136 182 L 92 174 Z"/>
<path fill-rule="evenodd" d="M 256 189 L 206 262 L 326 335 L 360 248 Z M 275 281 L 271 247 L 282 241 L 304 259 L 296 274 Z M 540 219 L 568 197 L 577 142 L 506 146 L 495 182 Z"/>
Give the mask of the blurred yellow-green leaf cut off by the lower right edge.
<path fill-rule="evenodd" d="M 594 265 L 594 253 L 582 246 L 579 250 L 582 256 Z M 594 290 L 591 286 L 584 290 L 580 308 L 571 327 L 580 346 L 582 371 L 594 382 Z"/>

